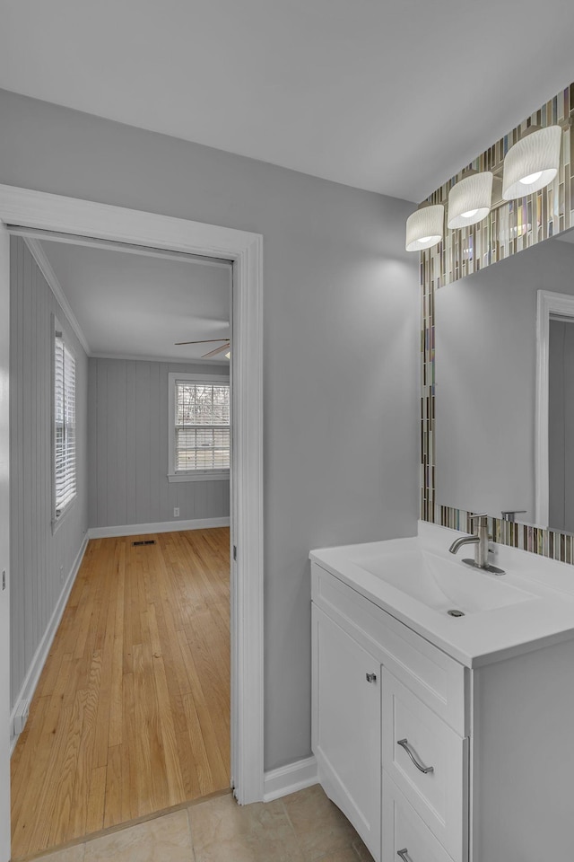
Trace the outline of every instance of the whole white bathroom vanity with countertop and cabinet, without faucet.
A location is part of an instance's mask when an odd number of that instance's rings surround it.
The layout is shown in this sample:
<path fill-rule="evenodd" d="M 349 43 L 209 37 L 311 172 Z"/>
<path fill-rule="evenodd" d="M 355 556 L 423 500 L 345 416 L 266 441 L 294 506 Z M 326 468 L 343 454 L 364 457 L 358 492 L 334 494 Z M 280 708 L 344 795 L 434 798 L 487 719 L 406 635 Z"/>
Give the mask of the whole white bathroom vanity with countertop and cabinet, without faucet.
<path fill-rule="evenodd" d="M 311 552 L 320 782 L 377 862 L 574 858 L 574 570 L 457 536 Z"/>

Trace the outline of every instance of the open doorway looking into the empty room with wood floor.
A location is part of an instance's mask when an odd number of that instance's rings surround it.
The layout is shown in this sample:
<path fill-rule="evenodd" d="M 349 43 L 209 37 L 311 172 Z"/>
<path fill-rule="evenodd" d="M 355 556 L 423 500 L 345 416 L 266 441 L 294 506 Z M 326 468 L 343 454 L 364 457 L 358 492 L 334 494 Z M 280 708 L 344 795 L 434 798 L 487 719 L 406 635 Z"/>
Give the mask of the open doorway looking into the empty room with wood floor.
<path fill-rule="evenodd" d="M 26 858 L 230 787 L 231 267 L 19 233 L 12 704 L 30 717 L 11 765 Z"/>

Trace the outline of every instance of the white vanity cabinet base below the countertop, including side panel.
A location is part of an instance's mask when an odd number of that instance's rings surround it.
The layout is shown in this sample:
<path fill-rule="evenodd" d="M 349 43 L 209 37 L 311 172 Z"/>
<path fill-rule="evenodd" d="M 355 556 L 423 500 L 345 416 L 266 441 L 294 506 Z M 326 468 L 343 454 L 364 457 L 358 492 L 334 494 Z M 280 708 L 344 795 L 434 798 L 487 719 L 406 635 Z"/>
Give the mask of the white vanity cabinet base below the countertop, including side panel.
<path fill-rule="evenodd" d="M 319 780 L 377 862 L 574 858 L 571 634 L 471 667 L 311 574 Z"/>

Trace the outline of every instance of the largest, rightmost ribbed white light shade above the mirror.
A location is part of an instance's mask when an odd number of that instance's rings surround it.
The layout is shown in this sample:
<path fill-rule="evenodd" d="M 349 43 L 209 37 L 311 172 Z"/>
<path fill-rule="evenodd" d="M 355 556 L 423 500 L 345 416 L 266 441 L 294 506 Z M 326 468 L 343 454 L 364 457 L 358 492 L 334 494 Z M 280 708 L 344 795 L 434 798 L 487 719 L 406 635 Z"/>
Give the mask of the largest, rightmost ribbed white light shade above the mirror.
<path fill-rule="evenodd" d="M 560 126 L 539 128 L 511 146 L 504 159 L 502 197 L 523 198 L 544 189 L 558 173 L 560 165 Z"/>

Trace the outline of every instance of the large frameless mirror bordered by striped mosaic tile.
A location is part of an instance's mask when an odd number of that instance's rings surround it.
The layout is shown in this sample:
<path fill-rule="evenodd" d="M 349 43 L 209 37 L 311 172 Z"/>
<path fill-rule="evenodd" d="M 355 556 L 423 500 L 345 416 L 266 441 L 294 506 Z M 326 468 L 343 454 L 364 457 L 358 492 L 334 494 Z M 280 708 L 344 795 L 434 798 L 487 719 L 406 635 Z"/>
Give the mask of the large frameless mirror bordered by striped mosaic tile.
<path fill-rule="evenodd" d="M 574 232 L 435 295 L 436 499 L 574 532 Z"/>

